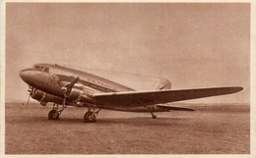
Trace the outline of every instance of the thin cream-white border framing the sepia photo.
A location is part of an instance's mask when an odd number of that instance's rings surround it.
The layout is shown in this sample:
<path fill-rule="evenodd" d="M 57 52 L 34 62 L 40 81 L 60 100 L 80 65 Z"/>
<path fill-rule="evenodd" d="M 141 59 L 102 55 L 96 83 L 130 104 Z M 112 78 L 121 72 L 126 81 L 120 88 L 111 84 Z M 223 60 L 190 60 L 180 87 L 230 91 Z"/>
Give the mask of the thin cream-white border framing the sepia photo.
<path fill-rule="evenodd" d="M 0 120 L 1 120 L 1 125 L 0 125 L 0 157 L 17 157 L 17 158 L 23 158 L 23 157 L 67 157 L 67 158 L 73 158 L 73 157 L 147 157 L 147 158 L 156 158 L 156 157 L 182 157 L 182 158 L 191 158 L 191 157 L 196 157 L 196 158 L 201 158 L 201 157 L 208 157 L 208 158 L 216 158 L 216 157 L 224 157 L 224 158 L 256 158 L 256 70 L 255 70 L 255 64 L 256 64 L 256 52 L 255 52 L 255 44 L 256 44 L 256 28 L 255 26 L 255 21 L 256 21 L 256 2 L 254 0 L 239 0 L 239 1 L 234 1 L 234 0 L 208 0 L 208 1 L 202 1 L 202 0 L 193 0 L 193 1 L 188 1 L 188 0 L 179 0 L 179 1 L 174 1 L 174 0 L 147 0 L 148 3 L 164 3 L 164 2 L 171 2 L 171 3 L 199 3 L 199 2 L 204 2 L 204 3 L 250 3 L 251 4 L 251 26 L 250 26 L 250 154 L 186 154 L 186 155 L 145 155 L 145 154 L 140 154 L 140 155 L 5 155 L 5 29 L 6 29 L 6 3 L 17 3 L 17 2 L 29 2 L 29 3 L 37 3 L 37 2 L 52 2 L 52 3 L 78 3 L 78 2 L 84 2 L 84 3 L 92 3 L 92 2 L 103 2 L 103 3 L 111 3 L 111 2 L 120 2 L 120 1 L 107 1 L 107 0 L 87 0 L 87 1 L 82 1 L 82 0 L 3 0 L 1 1 L 1 54 L 0 54 L 0 78 L 1 78 L 1 98 L 0 98 Z M 135 2 L 135 3 L 143 3 L 146 1 L 133 1 L 133 0 L 125 0 L 121 2 Z"/>

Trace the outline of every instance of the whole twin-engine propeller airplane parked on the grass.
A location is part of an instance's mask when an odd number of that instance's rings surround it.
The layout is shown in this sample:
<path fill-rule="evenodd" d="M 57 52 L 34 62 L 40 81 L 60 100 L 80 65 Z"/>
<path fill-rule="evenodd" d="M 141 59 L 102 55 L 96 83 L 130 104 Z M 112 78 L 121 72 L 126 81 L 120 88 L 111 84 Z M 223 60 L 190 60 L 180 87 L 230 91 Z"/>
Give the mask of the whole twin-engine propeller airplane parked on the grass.
<path fill-rule="evenodd" d="M 231 94 L 243 89 L 229 86 L 172 90 L 168 79 L 160 79 L 154 90 L 136 91 L 115 81 L 57 64 L 35 64 L 22 70 L 20 77 L 29 84 L 27 106 L 30 97 L 43 106 L 53 103 L 48 113 L 49 120 L 58 120 L 67 106 L 86 107 L 85 123 L 95 123 L 101 109 L 147 112 L 157 119 L 156 112 L 194 111 L 187 107 L 171 106 L 171 102 Z M 61 109 L 59 105 L 62 105 Z"/>

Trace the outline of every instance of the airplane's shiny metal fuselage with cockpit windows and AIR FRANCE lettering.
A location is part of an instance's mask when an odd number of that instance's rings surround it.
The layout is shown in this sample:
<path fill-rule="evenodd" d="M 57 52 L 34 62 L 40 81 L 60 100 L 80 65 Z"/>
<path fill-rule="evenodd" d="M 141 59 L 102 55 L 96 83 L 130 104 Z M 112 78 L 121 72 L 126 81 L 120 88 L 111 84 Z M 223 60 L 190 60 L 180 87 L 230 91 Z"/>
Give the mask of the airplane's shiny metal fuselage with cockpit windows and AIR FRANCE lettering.
<path fill-rule="evenodd" d="M 50 94 L 62 96 L 62 92 L 57 88 L 58 84 L 55 81 L 56 79 L 54 79 L 56 77 L 55 75 L 62 76 L 67 82 L 79 77 L 82 84 L 98 92 L 134 90 L 117 82 L 59 65 L 36 64 L 33 68 L 23 70 L 20 73 L 21 78 L 31 86 Z M 53 88 L 55 86 L 56 88 Z"/>

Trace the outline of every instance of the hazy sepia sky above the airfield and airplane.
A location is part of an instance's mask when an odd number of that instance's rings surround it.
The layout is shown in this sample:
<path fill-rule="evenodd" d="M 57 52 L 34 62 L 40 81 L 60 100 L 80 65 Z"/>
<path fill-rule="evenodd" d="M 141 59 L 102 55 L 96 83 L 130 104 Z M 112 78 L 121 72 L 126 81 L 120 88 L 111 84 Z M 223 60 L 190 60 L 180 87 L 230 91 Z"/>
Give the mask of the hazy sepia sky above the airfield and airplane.
<path fill-rule="evenodd" d="M 28 98 L 21 70 L 56 63 L 138 90 L 242 86 L 190 102 L 249 103 L 250 5 L 7 3 L 5 61 L 7 102 Z"/>

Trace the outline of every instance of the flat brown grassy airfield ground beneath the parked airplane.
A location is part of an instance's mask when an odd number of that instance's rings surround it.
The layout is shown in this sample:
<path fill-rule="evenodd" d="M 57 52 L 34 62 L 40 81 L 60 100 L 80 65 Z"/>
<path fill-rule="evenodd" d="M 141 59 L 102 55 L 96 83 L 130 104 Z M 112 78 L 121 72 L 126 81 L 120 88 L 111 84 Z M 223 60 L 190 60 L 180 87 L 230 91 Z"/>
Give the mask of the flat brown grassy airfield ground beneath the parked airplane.
<path fill-rule="evenodd" d="M 249 105 L 195 106 L 197 111 L 100 111 L 83 124 L 87 109 L 67 108 L 58 121 L 50 107 L 6 104 L 6 154 L 249 154 Z"/>

